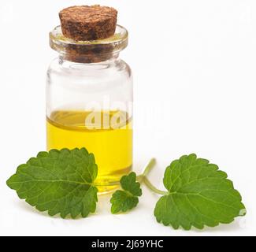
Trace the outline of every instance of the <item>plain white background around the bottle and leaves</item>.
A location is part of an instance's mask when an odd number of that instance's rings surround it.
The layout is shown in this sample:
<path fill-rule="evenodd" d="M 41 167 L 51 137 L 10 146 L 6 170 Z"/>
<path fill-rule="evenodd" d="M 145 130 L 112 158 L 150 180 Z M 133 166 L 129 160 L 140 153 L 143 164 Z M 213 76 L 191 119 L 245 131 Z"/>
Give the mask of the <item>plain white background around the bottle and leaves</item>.
<path fill-rule="evenodd" d="M 6 187 L 17 165 L 45 150 L 45 77 L 57 54 L 48 32 L 67 6 L 119 10 L 130 31 L 121 57 L 135 80 L 135 171 L 152 158 L 158 187 L 165 167 L 183 154 L 208 158 L 228 173 L 247 206 L 229 225 L 174 231 L 155 221 L 158 200 L 143 189 L 139 207 L 112 216 L 109 196 L 95 215 L 61 220 L 39 213 Z M 0 2 L 0 235 L 254 235 L 256 231 L 256 2 Z"/>

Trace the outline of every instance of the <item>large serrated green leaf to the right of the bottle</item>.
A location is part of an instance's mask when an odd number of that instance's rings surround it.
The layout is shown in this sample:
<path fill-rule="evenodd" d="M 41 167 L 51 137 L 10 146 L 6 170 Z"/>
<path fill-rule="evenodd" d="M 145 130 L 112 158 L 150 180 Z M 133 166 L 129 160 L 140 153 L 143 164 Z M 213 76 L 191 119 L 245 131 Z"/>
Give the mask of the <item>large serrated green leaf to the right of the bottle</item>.
<path fill-rule="evenodd" d="M 195 154 L 173 161 L 165 171 L 164 185 L 168 192 L 158 200 L 154 216 L 165 226 L 215 227 L 246 213 L 227 174 Z"/>

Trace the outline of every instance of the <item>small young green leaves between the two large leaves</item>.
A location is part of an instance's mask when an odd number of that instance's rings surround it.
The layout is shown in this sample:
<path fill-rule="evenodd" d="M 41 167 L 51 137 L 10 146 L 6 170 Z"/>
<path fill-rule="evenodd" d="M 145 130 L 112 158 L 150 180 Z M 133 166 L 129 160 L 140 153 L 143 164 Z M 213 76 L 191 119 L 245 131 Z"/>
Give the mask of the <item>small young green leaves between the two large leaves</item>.
<path fill-rule="evenodd" d="M 124 191 L 117 190 L 110 200 L 112 204 L 111 213 L 113 214 L 125 213 L 135 208 L 139 203 L 139 196 L 143 194 L 140 183 L 136 182 L 135 172 L 130 173 L 128 176 L 123 176 L 120 183 Z"/>

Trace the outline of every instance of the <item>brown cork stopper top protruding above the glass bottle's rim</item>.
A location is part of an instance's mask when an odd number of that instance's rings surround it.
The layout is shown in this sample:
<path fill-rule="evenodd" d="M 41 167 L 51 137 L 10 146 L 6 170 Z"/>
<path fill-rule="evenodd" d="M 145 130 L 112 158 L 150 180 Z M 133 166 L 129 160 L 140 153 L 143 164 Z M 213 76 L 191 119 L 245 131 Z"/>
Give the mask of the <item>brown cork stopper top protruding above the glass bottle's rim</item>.
<path fill-rule="evenodd" d="M 117 27 L 117 10 L 106 6 L 72 6 L 59 17 L 63 35 L 76 41 L 107 39 Z"/>

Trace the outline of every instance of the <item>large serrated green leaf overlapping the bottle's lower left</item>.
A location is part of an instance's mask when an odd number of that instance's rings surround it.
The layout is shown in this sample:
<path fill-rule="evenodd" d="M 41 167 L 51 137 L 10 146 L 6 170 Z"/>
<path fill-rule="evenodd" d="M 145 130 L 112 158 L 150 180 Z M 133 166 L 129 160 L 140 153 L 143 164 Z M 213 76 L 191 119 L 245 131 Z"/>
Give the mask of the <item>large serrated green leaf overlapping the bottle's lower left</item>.
<path fill-rule="evenodd" d="M 17 168 L 7 185 L 39 211 L 76 218 L 94 213 L 98 189 L 95 157 L 86 149 L 40 152 Z"/>

